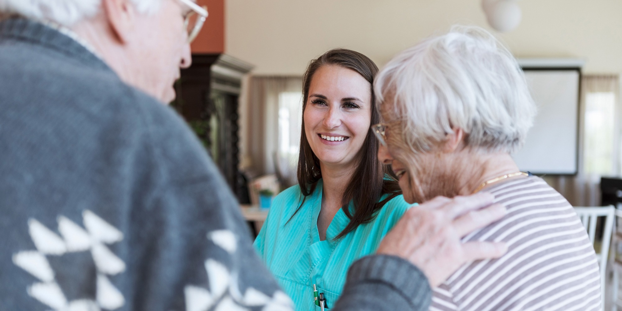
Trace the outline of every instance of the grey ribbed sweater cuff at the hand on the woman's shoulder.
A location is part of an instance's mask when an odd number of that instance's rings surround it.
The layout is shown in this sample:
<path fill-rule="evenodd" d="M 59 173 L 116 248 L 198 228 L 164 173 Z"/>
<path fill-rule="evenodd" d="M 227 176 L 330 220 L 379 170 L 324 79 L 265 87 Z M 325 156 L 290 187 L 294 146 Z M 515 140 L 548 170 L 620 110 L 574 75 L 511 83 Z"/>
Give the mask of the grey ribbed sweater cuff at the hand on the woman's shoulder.
<path fill-rule="evenodd" d="M 350 267 L 336 311 L 427 311 L 432 289 L 410 262 L 396 256 L 373 255 Z"/>

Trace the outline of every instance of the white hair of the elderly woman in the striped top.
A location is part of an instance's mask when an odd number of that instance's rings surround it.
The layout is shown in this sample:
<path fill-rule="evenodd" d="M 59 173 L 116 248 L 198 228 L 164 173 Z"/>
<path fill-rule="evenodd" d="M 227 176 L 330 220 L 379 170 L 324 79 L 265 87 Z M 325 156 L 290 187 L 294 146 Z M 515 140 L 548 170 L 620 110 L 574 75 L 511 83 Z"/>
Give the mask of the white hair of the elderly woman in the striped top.
<path fill-rule="evenodd" d="M 516 59 L 480 27 L 454 26 L 397 54 L 374 91 L 380 103 L 394 101 L 383 111 L 402 121 L 402 147 L 413 152 L 430 151 L 452 128 L 473 149 L 516 152 L 536 115 Z"/>

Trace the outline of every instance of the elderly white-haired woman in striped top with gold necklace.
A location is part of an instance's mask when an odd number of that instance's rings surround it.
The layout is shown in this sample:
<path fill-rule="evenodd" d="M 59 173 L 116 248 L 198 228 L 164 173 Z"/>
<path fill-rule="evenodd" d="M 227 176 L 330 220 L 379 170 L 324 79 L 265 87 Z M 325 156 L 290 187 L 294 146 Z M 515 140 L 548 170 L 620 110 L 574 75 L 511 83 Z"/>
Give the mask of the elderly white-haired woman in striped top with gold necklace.
<path fill-rule="evenodd" d="M 488 192 L 508 208 L 463 241 L 503 241 L 508 253 L 473 261 L 434 289 L 430 310 L 599 310 L 594 249 L 570 204 L 510 156 L 536 105 L 516 60 L 493 35 L 456 27 L 396 55 L 375 90 L 373 126 L 408 202 Z M 415 207 L 416 208 L 416 207 Z"/>

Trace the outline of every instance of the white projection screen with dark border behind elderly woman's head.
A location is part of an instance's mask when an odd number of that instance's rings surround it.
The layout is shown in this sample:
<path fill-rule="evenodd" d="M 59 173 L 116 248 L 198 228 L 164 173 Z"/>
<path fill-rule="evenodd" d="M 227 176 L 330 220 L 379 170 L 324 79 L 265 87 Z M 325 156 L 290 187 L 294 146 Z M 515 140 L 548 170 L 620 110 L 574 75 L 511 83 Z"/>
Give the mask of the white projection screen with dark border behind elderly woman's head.
<path fill-rule="evenodd" d="M 513 155 L 516 164 L 537 175 L 577 174 L 580 70 L 524 72 L 538 112 L 524 147 Z"/>

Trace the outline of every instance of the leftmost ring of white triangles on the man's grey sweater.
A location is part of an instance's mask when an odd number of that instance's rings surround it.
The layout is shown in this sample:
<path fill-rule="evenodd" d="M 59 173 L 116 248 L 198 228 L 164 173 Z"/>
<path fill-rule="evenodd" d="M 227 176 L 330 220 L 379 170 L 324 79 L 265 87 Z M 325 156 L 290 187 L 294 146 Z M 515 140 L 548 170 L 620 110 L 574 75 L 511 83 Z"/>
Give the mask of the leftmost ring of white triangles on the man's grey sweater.
<path fill-rule="evenodd" d="M 85 210 L 82 216 L 86 230 L 69 218 L 58 216 L 60 235 L 40 221 L 30 218 L 29 234 L 36 250 L 19 251 L 13 255 L 13 263 L 41 281 L 27 288 L 30 297 L 55 311 L 119 309 L 125 304 L 125 299 L 107 276 L 125 271 L 126 264 L 104 244 L 118 243 L 123 240 L 123 233 L 90 210 Z M 90 251 L 98 272 L 97 301 L 89 299 L 67 301 L 47 260 L 47 256 L 63 256 L 66 253 L 82 251 Z"/>

